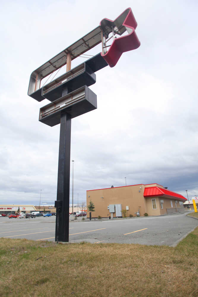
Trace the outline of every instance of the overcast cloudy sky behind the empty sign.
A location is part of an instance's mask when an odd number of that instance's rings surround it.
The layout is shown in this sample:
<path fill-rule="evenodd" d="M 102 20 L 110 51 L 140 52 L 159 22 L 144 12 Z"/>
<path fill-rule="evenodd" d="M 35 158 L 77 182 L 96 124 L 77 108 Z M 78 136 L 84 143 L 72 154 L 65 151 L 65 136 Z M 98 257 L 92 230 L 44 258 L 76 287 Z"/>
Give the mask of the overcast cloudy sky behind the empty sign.
<path fill-rule="evenodd" d="M 124 186 L 125 177 L 127 185 L 198 195 L 198 2 L 8 0 L 0 20 L 0 204 L 36 205 L 41 189 L 41 203 L 56 200 L 60 125 L 38 121 L 49 101 L 28 97 L 31 72 L 128 7 L 141 45 L 96 72 L 98 108 L 72 119 L 74 202 L 86 190 Z"/>

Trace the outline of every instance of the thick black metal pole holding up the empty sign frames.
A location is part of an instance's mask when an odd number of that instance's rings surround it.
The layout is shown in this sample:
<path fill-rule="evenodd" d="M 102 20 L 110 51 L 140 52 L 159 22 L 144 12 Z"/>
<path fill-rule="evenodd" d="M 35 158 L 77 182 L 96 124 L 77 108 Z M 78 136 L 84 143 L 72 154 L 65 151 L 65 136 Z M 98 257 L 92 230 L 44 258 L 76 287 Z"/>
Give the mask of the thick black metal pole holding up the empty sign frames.
<path fill-rule="evenodd" d="M 63 96 L 67 94 L 63 91 Z M 71 148 L 71 115 L 61 113 L 55 241 L 69 242 L 69 179 L 70 179 L 70 148 Z"/>

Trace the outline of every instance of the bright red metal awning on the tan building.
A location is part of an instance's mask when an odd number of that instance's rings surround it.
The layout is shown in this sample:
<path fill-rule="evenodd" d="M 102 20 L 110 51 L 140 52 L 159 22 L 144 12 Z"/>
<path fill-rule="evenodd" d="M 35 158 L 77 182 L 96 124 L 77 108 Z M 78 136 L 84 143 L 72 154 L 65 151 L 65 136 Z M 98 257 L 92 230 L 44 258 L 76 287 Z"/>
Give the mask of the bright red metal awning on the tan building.
<path fill-rule="evenodd" d="M 144 197 L 156 197 L 156 196 L 164 196 L 164 198 L 172 198 L 175 200 L 186 201 L 187 199 L 182 195 L 169 191 L 167 189 L 162 189 L 159 187 L 148 187 L 144 190 Z"/>

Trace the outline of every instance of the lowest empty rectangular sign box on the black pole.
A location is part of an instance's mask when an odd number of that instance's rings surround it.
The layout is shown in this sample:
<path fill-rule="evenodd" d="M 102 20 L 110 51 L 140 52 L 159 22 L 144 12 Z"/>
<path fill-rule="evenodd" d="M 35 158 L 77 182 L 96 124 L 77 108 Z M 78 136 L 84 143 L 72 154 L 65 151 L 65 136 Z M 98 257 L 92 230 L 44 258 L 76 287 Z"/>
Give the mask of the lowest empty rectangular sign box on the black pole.
<path fill-rule="evenodd" d="M 60 124 L 61 113 L 72 118 L 97 108 L 97 96 L 87 86 L 67 94 L 40 108 L 39 121 L 51 127 Z"/>

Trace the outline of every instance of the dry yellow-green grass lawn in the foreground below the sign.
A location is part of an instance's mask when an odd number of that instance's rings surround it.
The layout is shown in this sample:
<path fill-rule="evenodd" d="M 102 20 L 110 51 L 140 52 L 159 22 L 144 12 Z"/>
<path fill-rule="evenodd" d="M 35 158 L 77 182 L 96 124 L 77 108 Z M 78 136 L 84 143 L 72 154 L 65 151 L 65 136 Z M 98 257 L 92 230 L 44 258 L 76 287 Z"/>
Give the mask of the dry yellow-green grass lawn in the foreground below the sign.
<path fill-rule="evenodd" d="M 177 247 L 0 238 L 0 296 L 197 297 L 198 228 Z"/>

